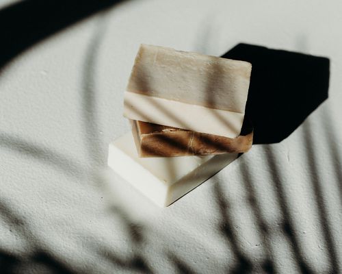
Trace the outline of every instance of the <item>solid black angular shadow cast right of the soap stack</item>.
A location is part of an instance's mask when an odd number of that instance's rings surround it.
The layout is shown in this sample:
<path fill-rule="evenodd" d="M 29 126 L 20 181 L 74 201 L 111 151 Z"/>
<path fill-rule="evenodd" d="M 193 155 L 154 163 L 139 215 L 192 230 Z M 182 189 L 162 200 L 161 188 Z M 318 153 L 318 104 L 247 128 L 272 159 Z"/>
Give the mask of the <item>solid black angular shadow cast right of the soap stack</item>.
<path fill-rule="evenodd" d="M 252 63 L 246 114 L 254 144 L 284 140 L 328 98 L 328 58 L 248 44 L 221 57 Z"/>

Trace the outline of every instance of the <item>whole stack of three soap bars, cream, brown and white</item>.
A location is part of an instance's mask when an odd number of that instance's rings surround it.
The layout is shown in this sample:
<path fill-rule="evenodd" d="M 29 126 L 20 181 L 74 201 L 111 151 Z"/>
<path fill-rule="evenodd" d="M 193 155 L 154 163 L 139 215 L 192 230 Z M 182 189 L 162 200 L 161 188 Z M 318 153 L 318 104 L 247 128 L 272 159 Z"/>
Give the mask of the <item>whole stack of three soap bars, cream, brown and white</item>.
<path fill-rule="evenodd" d="M 252 146 L 245 107 L 251 64 L 141 45 L 124 92 L 132 132 L 109 145 L 108 164 L 168 206 Z"/>

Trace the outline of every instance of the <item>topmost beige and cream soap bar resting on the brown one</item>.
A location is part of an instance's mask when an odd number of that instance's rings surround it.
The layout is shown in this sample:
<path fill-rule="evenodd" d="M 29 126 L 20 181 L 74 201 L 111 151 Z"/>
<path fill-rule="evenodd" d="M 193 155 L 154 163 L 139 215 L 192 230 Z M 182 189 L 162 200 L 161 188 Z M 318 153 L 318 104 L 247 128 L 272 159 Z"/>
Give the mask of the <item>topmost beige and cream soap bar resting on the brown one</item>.
<path fill-rule="evenodd" d="M 251 68 L 244 61 L 141 45 L 124 92 L 124 116 L 235 138 Z"/>

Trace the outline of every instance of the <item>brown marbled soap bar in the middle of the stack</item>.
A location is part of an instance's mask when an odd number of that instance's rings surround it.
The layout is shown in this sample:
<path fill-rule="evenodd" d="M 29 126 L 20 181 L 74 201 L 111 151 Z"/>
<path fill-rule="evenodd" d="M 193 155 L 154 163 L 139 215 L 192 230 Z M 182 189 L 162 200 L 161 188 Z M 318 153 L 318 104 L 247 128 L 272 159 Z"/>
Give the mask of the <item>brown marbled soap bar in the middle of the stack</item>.
<path fill-rule="evenodd" d="M 131 120 L 131 124 L 140 157 L 244 153 L 253 141 L 251 128 L 245 135 L 226 138 L 142 121 Z"/>

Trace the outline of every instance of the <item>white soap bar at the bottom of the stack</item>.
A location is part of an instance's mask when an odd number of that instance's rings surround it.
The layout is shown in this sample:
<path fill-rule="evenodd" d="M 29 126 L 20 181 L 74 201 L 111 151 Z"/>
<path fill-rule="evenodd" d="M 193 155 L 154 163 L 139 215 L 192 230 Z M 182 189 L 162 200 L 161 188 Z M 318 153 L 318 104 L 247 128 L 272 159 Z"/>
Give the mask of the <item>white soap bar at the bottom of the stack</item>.
<path fill-rule="evenodd" d="M 158 206 L 168 206 L 233 162 L 237 155 L 139 158 L 129 132 L 109 145 L 108 165 Z"/>

